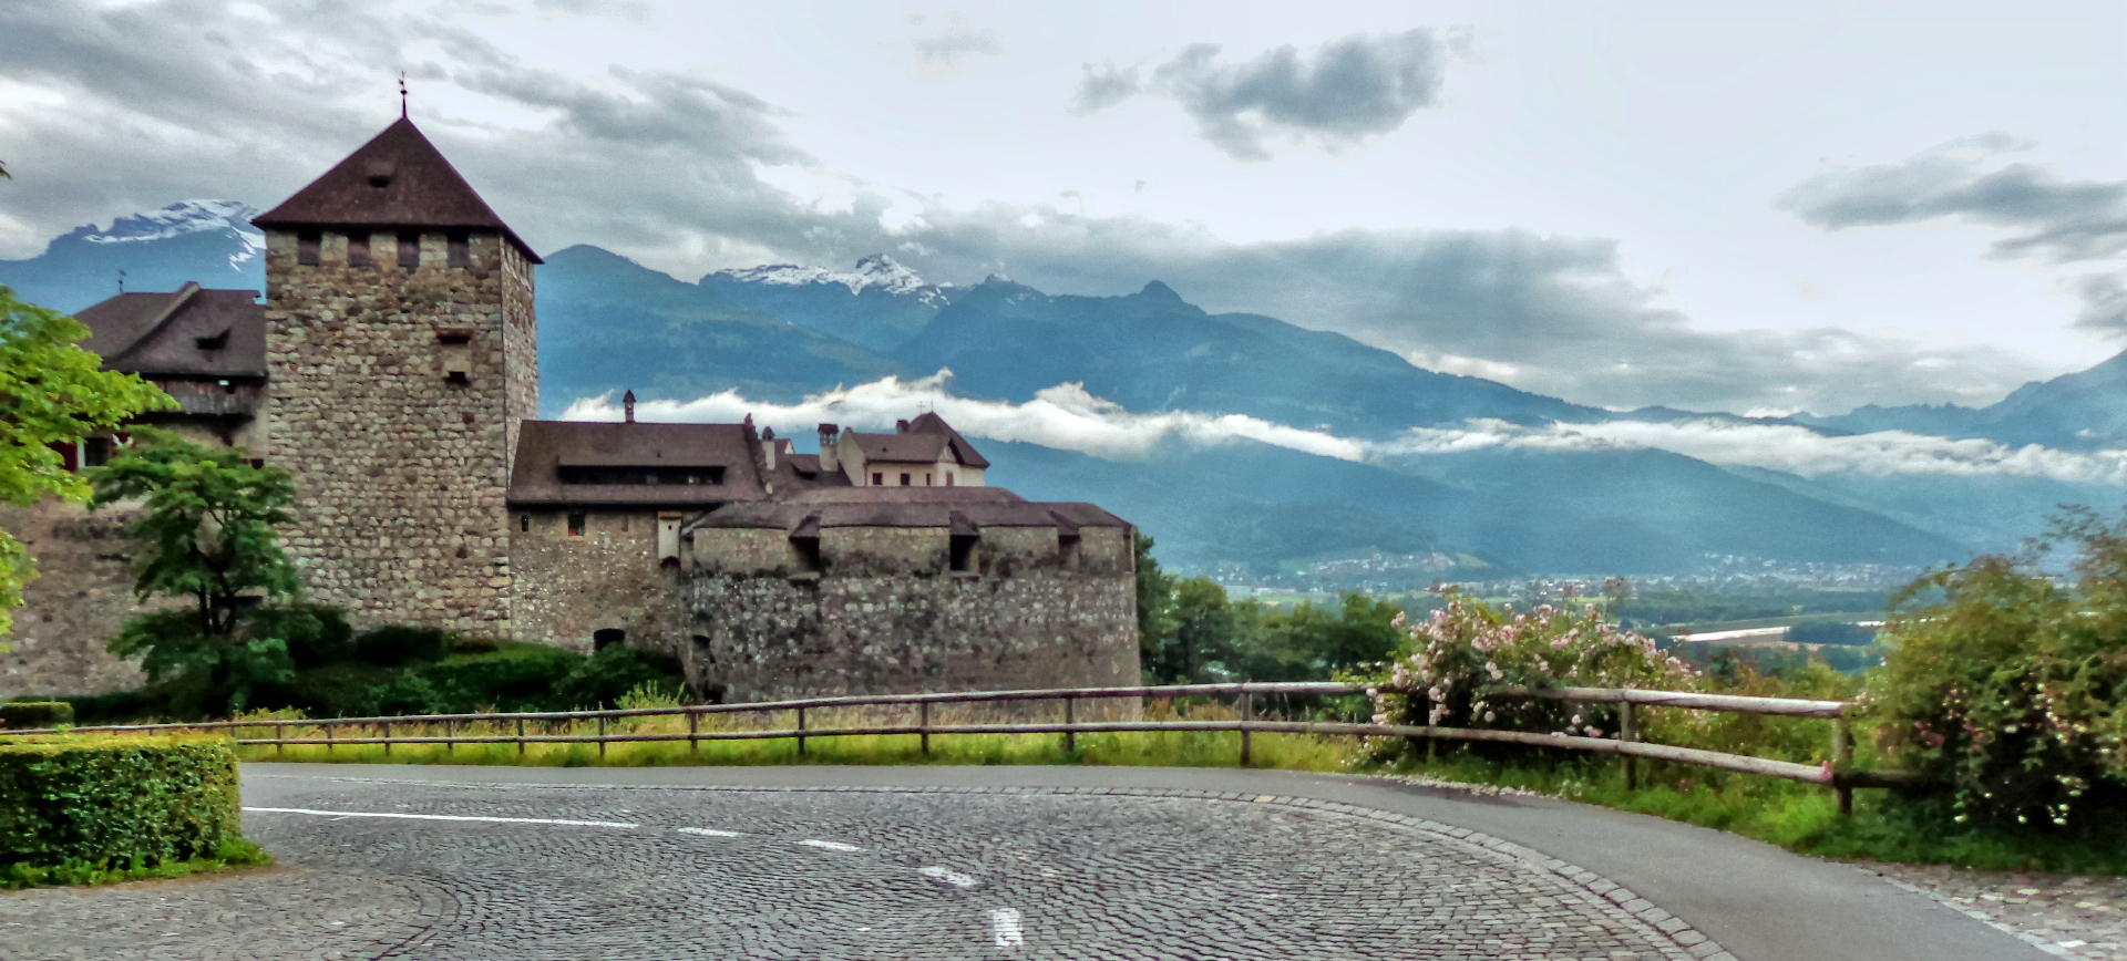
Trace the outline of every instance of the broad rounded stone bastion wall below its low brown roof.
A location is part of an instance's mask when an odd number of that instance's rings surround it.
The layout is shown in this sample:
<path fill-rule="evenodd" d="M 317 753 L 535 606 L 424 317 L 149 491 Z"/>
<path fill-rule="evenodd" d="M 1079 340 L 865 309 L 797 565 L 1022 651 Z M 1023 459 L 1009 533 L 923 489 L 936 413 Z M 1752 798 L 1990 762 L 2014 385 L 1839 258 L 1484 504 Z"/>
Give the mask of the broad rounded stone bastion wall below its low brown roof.
<path fill-rule="evenodd" d="M 727 702 L 1127 687 L 1138 674 L 1129 529 L 985 527 L 951 570 L 944 527 L 827 527 L 815 568 L 781 529 L 698 529 L 687 674 Z"/>

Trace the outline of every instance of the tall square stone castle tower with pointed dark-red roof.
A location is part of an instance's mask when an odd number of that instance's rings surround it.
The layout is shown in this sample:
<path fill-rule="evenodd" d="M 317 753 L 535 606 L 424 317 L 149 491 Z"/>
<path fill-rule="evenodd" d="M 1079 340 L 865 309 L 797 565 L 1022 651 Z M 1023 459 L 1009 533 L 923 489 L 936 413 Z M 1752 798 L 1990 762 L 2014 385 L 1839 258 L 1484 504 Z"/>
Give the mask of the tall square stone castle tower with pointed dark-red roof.
<path fill-rule="evenodd" d="M 257 455 L 311 600 L 357 625 L 510 634 L 504 493 L 536 417 L 538 255 L 400 119 L 253 221 L 266 232 Z"/>

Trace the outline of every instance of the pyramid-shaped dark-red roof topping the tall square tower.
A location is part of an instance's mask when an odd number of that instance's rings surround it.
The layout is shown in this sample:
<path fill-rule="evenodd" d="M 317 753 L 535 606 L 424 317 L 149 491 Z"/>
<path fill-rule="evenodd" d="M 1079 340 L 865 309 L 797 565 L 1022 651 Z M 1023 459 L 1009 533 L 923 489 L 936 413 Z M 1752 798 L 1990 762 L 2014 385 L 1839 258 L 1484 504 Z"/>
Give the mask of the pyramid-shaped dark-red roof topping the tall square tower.
<path fill-rule="evenodd" d="M 532 247 L 496 217 L 457 168 L 442 159 L 442 151 L 406 117 L 251 223 L 493 230 L 510 238 L 532 264 L 540 264 Z"/>

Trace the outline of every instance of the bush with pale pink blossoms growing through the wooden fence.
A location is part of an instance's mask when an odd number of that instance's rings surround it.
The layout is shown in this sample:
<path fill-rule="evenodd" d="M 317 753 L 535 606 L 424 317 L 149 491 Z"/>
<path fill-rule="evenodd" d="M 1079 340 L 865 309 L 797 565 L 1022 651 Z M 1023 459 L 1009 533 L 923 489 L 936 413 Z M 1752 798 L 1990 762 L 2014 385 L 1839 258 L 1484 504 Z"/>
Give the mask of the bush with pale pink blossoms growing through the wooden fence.
<path fill-rule="evenodd" d="M 1493 727 L 1617 738 L 1617 708 L 1531 697 L 1487 697 L 1508 687 L 1642 687 L 1689 691 L 1691 668 L 1623 631 L 1589 604 L 1491 610 L 1444 591 L 1446 606 L 1419 623 L 1395 619 L 1408 640 L 1376 672 L 1355 676 L 1374 697 L 1374 723 Z"/>

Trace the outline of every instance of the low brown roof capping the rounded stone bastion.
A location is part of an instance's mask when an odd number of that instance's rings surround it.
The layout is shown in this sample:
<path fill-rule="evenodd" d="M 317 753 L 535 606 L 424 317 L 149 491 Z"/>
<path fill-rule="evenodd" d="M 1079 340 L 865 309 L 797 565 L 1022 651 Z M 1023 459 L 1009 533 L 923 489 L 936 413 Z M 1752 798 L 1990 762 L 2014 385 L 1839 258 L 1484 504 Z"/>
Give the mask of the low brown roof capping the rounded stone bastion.
<path fill-rule="evenodd" d="M 1127 527 L 1093 504 L 1042 504 L 1002 487 L 842 487 L 789 500 L 727 504 L 689 525 L 785 529 L 817 536 L 819 527 Z"/>

